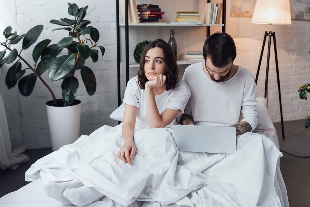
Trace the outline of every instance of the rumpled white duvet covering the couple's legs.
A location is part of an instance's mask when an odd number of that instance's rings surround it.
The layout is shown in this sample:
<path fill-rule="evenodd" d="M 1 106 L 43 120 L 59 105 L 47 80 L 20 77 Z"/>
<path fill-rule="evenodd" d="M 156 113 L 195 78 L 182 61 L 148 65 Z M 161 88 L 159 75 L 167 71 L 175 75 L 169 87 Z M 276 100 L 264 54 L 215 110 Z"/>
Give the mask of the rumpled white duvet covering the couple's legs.
<path fill-rule="evenodd" d="M 39 159 L 26 181 L 77 178 L 105 195 L 89 207 L 281 206 L 274 179 L 282 154 L 264 135 L 245 133 L 235 154 L 213 154 L 179 152 L 170 128 L 137 130 L 129 165 L 116 156 L 120 129 L 103 126 Z"/>

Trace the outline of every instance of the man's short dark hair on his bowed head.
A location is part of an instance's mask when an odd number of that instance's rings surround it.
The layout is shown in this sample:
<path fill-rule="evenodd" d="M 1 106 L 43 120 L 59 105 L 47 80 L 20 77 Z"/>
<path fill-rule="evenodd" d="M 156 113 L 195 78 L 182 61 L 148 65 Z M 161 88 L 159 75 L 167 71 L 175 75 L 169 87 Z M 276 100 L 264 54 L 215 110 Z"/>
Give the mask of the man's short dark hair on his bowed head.
<path fill-rule="evenodd" d="M 232 37 L 226 32 L 216 32 L 204 41 L 204 60 L 210 58 L 215 67 L 227 66 L 236 58 L 236 45 Z"/>

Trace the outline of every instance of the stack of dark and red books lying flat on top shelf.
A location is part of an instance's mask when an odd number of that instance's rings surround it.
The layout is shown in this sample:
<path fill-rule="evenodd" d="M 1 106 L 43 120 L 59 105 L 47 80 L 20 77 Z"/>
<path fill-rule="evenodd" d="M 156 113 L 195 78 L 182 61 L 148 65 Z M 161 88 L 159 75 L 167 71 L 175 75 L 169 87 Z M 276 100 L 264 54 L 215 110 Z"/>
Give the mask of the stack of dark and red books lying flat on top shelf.
<path fill-rule="evenodd" d="M 159 22 L 165 12 L 161 11 L 158 5 L 154 4 L 138 4 L 138 16 L 141 23 Z"/>

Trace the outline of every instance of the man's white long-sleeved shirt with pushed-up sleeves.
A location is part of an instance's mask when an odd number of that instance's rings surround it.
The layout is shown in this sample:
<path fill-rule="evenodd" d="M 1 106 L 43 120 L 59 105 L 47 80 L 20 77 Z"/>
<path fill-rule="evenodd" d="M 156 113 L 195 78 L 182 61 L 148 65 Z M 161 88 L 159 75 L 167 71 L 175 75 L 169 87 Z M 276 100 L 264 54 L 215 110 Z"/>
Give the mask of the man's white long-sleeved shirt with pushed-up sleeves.
<path fill-rule="evenodd" d="M 252 130 L 257 126 L 256 85 L 252 73 L 239 66 L 236 74 L 224 82 L 214 82 L 204 73 L 202 62 L 185 69 L 183 80 L 191 90 L 184 113 L 191 114 L 195 125 L 230 126 L 242 120 Z"/>

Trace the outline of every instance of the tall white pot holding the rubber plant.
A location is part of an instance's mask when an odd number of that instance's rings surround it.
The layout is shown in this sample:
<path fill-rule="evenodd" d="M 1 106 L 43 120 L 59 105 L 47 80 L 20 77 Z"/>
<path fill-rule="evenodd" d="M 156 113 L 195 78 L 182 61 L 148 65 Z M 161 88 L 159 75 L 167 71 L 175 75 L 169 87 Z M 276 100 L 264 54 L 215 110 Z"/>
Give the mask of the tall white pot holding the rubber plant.
<path fill-rule="evenodd" d="M 50 129 L 52 150 L 72 144 L 80 136 L 81 101 L 73 106 L 50 106 L 46 103 L 48 126 Z"/>

